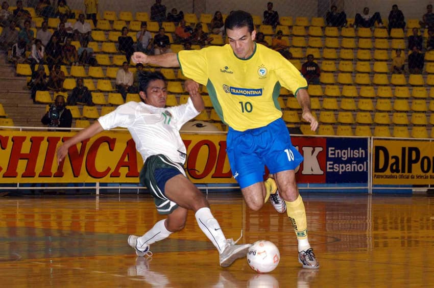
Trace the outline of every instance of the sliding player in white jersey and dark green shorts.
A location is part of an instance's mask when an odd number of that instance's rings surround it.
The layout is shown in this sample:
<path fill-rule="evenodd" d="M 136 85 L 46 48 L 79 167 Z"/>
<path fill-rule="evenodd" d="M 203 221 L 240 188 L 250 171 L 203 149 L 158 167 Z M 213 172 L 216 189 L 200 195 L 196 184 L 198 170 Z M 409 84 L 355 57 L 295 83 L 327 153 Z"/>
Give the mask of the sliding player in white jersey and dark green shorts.
<path fill-rule="evenodd" d="M 186 148 L 179 129 L 204 109 L 202 97 L 190 96 L 186 104 L 166 108 L 166 82 L 160 72 L 142 72 L 139 91 L 141 102 L 128 102 L 117 107 L 60 146 L 58 163 L 68 154 L 70 146 L 103 130 L 128 128 L 144 162 L 140 183 L 154 197 L 158 213 L 167 215 L 141 237 L 130 235 L 128 244 L 138 256 L 152 255 L 150 245 L 182 230 L 187 211 L 192 210 L 199 227 L 219 251 L 220 266 L 230 266 L 235 259 L 246 256 L 251 245 L 235 245 L 232 239 L 225 238 L 219 222 L 211 214 L 208 201 L 183 169 Z"/>

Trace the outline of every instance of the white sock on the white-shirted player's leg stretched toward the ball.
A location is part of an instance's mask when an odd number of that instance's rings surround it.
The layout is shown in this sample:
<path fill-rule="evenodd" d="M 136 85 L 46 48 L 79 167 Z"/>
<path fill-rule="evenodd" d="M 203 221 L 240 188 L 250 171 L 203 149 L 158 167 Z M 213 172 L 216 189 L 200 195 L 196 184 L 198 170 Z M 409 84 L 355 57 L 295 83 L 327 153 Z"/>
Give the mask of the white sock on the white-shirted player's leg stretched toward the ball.
<path fill-rule="evenodd" d="M 221 254 L 225 249 L 225 235 L 222 228 L 220 228 L 219 222 L 212 216 L 211 210 L 208 207 L 200 208 L 196 214 L 196 221 L 198 221 L 199 228 L 205 233 L 206 237 L 211 240 L 215 248 L 219 250 Z"/>

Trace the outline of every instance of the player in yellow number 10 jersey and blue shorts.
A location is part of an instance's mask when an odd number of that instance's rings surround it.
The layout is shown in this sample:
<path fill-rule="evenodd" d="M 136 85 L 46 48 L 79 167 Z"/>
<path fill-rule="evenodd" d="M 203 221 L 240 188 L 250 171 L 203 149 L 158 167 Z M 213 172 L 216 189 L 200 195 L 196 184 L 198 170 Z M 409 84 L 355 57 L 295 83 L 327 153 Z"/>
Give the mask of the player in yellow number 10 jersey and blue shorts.
<path fill-rule="evenodd" d="M 198 93 L 198 83 L 207 86 L 215 111 L 229 126 L 229 163 L 247 205 L 257 211 L 270 196 L 276 210 L 286 211 L 292 222 L 299 262 L 303 268 L 318 269 L 295 180 L 294 170 L 303 157 L 291 143 L 277 102 L 281 86 L 293 91 L 303 119 L 316 130 L 318 122 L 310 111 L 306 80 L 277 51 L 254 42 L 256 31 L 249 13 L 232 12 L 225 20 L 225 29 L 229 45 L 159 56 L 136 52 L 133 61 L 181 67 L 183 74 L 195 81 L 186 84 L 192 96 Z M 275 180 L 262 181 L 264 165 Z"/>

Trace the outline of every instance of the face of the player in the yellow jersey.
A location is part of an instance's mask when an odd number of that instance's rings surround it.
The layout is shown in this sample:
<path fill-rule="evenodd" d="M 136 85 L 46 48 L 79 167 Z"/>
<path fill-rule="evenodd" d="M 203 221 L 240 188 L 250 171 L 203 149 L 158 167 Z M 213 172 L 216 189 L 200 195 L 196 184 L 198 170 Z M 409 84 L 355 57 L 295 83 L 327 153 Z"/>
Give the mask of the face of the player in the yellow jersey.
<path fill-rule="evenodd" d="M 232 47 L 233 53 L 238 58 L 249 58 L 253 54 L 255 47 L 256 31 L 249 32 L 247 26 L 235 29 L 226 29 L 226 35 L 229 38 L 229 44 Z"/>

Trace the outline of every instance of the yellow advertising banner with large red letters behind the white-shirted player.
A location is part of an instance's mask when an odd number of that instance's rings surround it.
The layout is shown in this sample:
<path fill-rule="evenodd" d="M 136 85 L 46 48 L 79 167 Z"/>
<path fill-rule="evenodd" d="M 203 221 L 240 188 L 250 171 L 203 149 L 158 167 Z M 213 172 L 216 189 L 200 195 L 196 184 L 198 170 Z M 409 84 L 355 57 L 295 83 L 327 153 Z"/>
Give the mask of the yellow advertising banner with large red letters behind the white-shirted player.
<path fill-rule="evenodd" d="M 57 164 L 56 149 L 72 132 L 0 131 L 0 183 L 138 183 L 143 165 L 128 132 L 103 132 L 69 148 Z M 185 168 L 195 183 L 235 183 L 226 135 L 182 135 Z"/>

